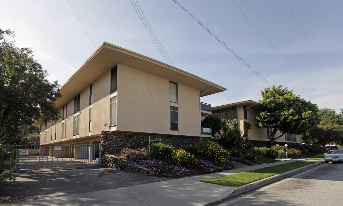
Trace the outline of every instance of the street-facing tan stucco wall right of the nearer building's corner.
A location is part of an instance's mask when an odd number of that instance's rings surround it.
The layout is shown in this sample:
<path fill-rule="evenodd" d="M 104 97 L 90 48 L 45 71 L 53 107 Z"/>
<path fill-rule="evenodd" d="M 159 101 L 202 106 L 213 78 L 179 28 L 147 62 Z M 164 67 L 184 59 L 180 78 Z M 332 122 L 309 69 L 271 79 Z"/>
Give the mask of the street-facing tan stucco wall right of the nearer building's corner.
<path fill-rule="evenodd" d="M 200 135 L 200 91 L 178 84 L 179 131 L 169 129 L 169 80 L 118 65 L 117 130 Z"/>

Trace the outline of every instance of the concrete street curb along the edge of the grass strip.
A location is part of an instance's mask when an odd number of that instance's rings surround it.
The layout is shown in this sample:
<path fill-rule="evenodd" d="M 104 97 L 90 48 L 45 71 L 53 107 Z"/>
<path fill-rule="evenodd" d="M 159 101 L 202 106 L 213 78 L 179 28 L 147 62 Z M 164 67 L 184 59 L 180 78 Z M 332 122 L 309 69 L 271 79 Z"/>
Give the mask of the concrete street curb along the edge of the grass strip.
<path fill-rule="evenodd" d="M 271 182 L 279 181 L 281 179 L 287 178 L 287 177 L 292 176 L 294 174 L 297 174 L 297 173 L 304 172 L 306 170 L 315 168 L 318 165 L 323 164 L 323 163 L 324 163 L 324 161 L 315 162 L 314 164 L 306 165 L 306 166 L 301 167 L 301 168 L 297 168 L 297 169 L 294 169 L 294 170 L 291 170 L 291 171 L 288 171 L 288 172 L 284 172 L 284 173 L 281 173 L 281 174 L 277 174 L 277 175 L 271 176 L 269 178 L 265 178 L 265 179 L 262 179 L 262 180 L 259 180 L 259 181 L 256 181 L 256 182 L 252 182 L 252 183 L 249 183 L 249 184 L 246 184 L 246 185 L 239 186 L 239 187 L 236 188 L 236 190 L 233 193 L 231 193 L 227 197 L 235 196 L 235 195 L 240 194 L 242 192 L 247 192 L 249 190 L 252 190 L 252 189 L 259 188 L 261 186 L 267 185 L 267 184 L 269 184 Z"/>

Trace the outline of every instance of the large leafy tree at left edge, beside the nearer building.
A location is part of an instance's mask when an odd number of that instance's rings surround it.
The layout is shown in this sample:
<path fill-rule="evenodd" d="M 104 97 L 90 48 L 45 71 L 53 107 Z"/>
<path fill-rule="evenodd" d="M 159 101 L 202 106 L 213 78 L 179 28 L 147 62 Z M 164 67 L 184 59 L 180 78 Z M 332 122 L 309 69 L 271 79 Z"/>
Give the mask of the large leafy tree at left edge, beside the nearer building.
<path fill-rule="evenodd" d="M 8 41 L 11 30 L 0 29 L 0 142 L 11 142 L 23 124 L 34 120 L 57 120 L 55 101 L 61 97 L 57 81 L 33 58 L 30 48 L 15 47 Z"/>

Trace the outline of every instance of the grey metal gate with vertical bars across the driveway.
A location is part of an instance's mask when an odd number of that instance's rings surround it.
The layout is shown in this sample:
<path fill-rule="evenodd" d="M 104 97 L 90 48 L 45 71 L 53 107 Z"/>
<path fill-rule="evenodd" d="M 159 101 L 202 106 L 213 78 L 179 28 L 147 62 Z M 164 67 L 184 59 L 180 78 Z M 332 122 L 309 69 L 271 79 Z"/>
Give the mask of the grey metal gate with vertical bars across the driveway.
<path fill-rule="evenodd" d="M 7 145 L 12 171 L 101 165 L 99 145 Z"/>

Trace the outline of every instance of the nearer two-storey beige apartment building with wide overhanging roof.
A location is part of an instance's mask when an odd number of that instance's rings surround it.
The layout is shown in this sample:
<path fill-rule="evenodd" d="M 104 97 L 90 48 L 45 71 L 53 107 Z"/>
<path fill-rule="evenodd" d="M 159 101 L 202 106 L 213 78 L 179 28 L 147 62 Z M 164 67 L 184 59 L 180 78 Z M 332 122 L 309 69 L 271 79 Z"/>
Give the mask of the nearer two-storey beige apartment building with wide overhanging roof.
<path fill-rule="evenodd" d="M 104 42 L 61 87 L 61 118 L 41 123 L 40 144 L 95 145 L 104 132 L 121 141 L 135 134 L 209 137 L 201 134 L 201 116 L 211 112 L 201 110 L 200 98 L 225 90 Z"/>

